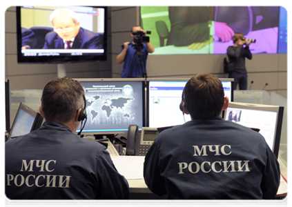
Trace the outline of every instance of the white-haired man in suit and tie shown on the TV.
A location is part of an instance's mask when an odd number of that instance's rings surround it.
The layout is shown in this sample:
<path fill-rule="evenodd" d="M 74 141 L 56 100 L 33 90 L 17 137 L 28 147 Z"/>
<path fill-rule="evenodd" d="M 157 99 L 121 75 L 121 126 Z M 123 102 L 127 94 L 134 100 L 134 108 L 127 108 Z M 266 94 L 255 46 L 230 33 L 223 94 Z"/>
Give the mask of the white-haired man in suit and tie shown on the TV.
<path fill-rule="evenodd" d="M 99 34 L 81 28 L 77 14 L 68 8 L 58 8 L 50 14 L 54 31 L 46 34 L 43 49 L 102 48 Z"/>

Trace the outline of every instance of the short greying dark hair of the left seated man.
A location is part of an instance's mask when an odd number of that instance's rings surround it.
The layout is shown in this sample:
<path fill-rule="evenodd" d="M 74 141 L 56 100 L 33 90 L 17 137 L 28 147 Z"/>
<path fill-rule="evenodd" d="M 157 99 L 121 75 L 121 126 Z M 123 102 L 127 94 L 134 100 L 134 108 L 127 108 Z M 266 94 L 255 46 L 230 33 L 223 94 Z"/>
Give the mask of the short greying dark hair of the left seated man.
<path fill-rule="evenodd" d="M 50 80 L 41 96 L 41 108 L 46 121 L 66 123 L 84 106 L 84 88 L 68 77 Z"/>

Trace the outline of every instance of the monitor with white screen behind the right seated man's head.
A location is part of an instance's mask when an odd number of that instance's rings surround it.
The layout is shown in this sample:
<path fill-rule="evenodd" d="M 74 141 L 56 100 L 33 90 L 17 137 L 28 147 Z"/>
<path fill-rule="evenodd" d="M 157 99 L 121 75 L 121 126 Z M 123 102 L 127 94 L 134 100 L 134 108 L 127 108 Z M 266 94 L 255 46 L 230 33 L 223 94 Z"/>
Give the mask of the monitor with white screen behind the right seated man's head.
<path fill-rule="evenodd" d="M 191 116 L 182 114 L 179 103 L 182 91 L 189 78 L 152 78 L 148 81 L 147 115 L 148 127 L 166 127 L 191 121 Z M 233 101 L 233 79 L 220 79 L 225 95 Z"/>

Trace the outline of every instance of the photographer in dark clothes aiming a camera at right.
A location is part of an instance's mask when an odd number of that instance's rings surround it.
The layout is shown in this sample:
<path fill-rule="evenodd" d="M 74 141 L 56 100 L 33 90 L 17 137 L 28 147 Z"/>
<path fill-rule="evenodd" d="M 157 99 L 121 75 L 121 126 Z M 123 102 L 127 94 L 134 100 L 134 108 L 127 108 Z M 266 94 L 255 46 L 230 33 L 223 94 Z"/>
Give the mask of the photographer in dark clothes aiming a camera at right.
<path fill-rule="evenodd" d="M 233 63 L 233 71 L 229 72 L 228 78 L 234 79 L 234 90 L 236 90 L 237 84 L 239 84 L 240 90 L 247 90 L 245 58 L 253 58 L 251 50 L 249 50 L 251 40 L 246 39 L 240 32 L 235 33 L 232 39 L 234 45 L 227 48 L 227 55 L 229 61 Z"/>

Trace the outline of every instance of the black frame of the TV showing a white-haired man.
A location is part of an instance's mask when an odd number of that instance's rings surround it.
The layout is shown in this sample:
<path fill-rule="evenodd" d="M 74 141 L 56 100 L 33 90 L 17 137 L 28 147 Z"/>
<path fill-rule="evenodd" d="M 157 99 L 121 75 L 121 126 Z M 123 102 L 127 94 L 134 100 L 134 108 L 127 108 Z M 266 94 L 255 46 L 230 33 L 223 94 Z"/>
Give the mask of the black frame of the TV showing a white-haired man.
<path fill-rule="evenodd" d="M 84 6 L 93 8 L 104 8 L 104 52 L 95 55 L 75 55 L 75 56 L 23 56 L 21 55 L 21 6 L 16 6 L 17 14 L 17 62 L 18 63 L 76 63 L 87 61 L 107 60 L 107 34 L 108 34 L 108 6 Z"/>

